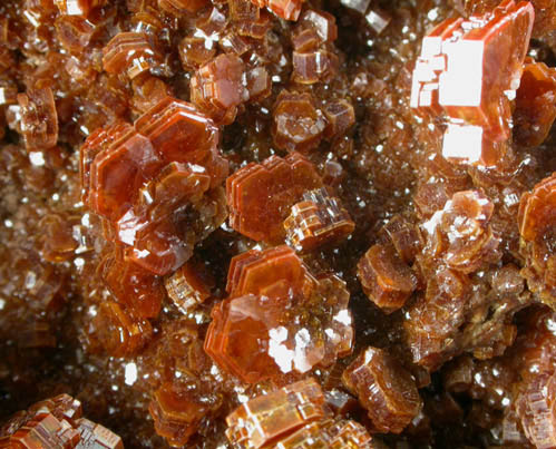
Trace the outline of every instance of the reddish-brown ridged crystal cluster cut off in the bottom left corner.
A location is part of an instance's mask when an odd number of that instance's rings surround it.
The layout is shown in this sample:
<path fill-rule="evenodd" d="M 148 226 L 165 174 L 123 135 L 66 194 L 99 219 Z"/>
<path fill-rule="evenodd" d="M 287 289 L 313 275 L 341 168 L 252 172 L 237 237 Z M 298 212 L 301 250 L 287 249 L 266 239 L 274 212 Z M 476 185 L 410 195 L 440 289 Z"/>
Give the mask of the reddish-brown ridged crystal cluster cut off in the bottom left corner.
<path fill-rule="evenodd" d="M 60 394 L 32 404 L 0 428 L 2 448 L 123 449 L 121 439 L 81 416 L 81 403 Z"/>

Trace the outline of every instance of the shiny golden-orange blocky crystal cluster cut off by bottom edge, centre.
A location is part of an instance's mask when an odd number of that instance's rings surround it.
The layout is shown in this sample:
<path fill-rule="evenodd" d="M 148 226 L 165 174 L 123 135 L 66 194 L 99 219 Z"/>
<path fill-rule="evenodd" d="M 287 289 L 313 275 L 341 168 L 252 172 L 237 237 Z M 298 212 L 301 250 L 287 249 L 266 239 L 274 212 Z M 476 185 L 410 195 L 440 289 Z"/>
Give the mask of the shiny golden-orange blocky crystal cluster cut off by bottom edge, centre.
<path fill-rule="evenodd" d="M 226 418 L 226 436 L 245 448 L 371 448 L 354 421 L 333 419 L 319 383 L 309 378 L 260 396 Z"/>

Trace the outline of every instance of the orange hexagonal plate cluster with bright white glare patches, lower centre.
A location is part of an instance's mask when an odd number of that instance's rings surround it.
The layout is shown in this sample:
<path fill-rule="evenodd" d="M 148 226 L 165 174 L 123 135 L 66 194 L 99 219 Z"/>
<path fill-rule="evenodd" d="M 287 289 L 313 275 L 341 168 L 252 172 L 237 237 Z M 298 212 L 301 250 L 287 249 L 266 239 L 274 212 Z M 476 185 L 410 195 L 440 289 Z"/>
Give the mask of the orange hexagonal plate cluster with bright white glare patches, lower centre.
<path fill-rule="evenodd" d="M 345 283 L 312 276 L 290 247 L 234 257 L 226 290 L 212 311 L 205 351 L 244 382 L 305 373 L 351 352 Z"/>

